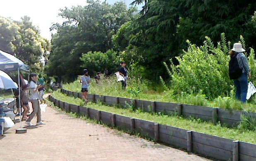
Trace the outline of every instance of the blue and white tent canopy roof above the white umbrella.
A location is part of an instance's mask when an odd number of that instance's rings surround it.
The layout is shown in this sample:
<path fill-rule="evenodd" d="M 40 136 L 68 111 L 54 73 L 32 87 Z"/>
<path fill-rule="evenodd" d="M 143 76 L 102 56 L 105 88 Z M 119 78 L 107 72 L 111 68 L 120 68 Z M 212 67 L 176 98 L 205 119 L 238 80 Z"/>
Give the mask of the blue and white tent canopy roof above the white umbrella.
<path fill-rule="evenodd" d="M 24 62 L 13 55 L 0 50 L 0 70 L 7 72 L 18 70 L 18 68 L 29 72 L 29 65 L 25 65 Z"/>

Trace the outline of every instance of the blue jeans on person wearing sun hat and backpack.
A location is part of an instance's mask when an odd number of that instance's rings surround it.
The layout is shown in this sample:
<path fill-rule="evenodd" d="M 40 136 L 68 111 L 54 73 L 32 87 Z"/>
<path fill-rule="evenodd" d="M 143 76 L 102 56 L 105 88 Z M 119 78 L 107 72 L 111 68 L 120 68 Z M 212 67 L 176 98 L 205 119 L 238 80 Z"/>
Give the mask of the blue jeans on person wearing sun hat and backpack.
<path fill-rule="evenodd" d="M 238 79 L 234 79 L 236 87 L 236 99 L 241 100 L 242 103 L 246 103 L 246 95 L 248 90 L 248 76 L 247 73 L 242 73 Z"/>

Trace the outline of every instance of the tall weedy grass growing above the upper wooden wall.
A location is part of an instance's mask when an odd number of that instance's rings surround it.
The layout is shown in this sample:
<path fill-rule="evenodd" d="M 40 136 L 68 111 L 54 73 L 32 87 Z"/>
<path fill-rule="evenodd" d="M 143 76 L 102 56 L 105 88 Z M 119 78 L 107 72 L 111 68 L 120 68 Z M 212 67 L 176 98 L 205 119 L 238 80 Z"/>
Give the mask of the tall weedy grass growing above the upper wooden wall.
<path fill-rule="evenodd" d="M 92 81 L 90 84 L 89 93 L 99 94 L 105 96 L 117 96 L 126 97 L 131 99 L 144 99 L 150 101 L 162 101 L 172 103 L 184 103 L 199 106 L 220 107 L 225 109 L 244 110 L 244 111 L 256 111 L 256 105 L 254 101 L 243 104 L 240 101 L 234 99 L 234 96 L 230 97 L 217 97 L 210 100 L 204 94 L 187 94 L 181 92 L 181 94 L 174 94 L 171 90 L 162 92 L 156 92 L 149 89 L 152 86 L 150 82 L 141 81 L 140 79 L 130 79 L 127 82 L 127 89 L 121 88 L 121 82 L 116 82 L 116 77 L 108 77 L 101 79 L 99 84 Z M 63 88 L 70 91 L 81 91 L 81 84 L 79 81 L 75 81 L 69 84 L 63 84 Z M 255 96 L 253 96 L 255 97 Z M 252 99 L 256 100 L 256 99 Z"/>

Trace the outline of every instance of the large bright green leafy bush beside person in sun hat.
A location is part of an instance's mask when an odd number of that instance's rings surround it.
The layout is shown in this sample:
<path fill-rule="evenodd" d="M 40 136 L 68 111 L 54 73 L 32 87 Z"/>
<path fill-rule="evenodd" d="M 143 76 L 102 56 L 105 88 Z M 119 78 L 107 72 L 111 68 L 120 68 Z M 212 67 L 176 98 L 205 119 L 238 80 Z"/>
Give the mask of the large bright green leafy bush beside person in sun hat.
<path fill-rule="evenodd" d="M 217 47 L 208 37 L 200 48 L 187 41 L 188 50 L 184 50 L 183 56 L 176 57 L 179 65 L 171 65 L 171 89 L 174 94 L 202 93 L 208 99 L 229 96 L 233 89 L 233 82 L 228 76 L 230 58 L 227 52 L 230 46 L 226 43 L 225 35 L 221 37 L 222 41 Z M 241 41 L 244 42 L 242 36 Z M 249 64 L 252 69 L 255 68 L 255 61 L 254 51 L 251 50 Z"/>

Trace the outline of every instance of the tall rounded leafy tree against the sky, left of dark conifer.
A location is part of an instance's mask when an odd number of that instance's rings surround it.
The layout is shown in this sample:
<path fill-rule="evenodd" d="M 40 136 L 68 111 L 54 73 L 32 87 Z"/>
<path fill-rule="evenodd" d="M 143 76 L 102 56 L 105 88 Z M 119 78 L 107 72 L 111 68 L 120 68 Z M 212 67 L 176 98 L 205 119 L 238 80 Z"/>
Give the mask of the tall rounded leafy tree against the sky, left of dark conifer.
<path fill-rule="evenodd" d="M 60 16 L 67 18 L 68 21 L 51 27 L 52 30 L 57 30 L 57 33 L 52 37 L 53 48 L 46 71 L 49 76 L 57 76 L 58 82 L 72 82 L 77 75 L 82 74 L 82 67 L 92 63 L 84 65 L 80 60 L 81 57 L 85 59 L 86 53 L 108 53 L 108 50 L 113 48 L 112 36 L 118 32 L 122 24 L 131 21 L 134 16 L 135 8 L 128 9 L 123 2 L 114 5 L 101 3 L 99 0 L 87 2 L 87 6 L 60 10 Z M 92 70 L 103 71 L 104 68 L 101 69 L 101 66 L 94 65 Z"/>

